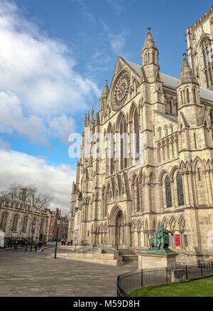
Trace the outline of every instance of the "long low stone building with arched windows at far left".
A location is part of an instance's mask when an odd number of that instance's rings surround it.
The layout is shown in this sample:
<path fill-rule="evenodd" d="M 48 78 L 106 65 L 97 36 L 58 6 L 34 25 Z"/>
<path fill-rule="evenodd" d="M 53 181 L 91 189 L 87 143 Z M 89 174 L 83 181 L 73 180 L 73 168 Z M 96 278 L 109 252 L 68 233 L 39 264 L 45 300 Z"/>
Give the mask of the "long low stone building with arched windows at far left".
<path fill-rule="evenodd" d="M 25 190 L 25 189 L 23 189 Z M 34 206 L 34 197 L 31 202 L 26 201 L 25 192 L 19 199 L 0 198 L 0 231 L 5 238 L 31 238 L 46 240 L 48 216 Z M 35 228 L 33 229 L 33 225 Z"/>

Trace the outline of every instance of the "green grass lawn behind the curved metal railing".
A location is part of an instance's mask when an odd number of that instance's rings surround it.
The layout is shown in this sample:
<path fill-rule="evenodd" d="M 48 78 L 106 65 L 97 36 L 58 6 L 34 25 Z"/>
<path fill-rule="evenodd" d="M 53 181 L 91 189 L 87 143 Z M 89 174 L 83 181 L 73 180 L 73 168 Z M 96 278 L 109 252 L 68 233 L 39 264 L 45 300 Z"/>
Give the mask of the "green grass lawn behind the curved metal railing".
<path fill-rule="evenodd" d="M 187 283 L 141 288 L 131 292 L 131 297 L 213 297 L 213 278 L 203 278 Z"/>

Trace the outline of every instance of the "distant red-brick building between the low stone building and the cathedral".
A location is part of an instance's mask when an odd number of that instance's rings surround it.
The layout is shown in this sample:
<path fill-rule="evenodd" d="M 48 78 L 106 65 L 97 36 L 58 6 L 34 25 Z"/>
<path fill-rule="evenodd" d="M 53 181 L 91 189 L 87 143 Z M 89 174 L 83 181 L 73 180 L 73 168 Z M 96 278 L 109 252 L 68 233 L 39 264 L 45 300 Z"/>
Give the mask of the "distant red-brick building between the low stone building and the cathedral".
<path fill-rule="evenodd" d="M 62 240 L 62 238 L 66 239 L 69 223 L 67 216 L 61 216 L 61 211 L 58 208 L 55 211 L 50 211 L 50 209 L 47 209 L 46 213 L 48 215 L 47 241 L 55 241 L 57 237 L 57 231 L 58 240 Z M 59 224 L 58 220 L 60 221 Z"/>

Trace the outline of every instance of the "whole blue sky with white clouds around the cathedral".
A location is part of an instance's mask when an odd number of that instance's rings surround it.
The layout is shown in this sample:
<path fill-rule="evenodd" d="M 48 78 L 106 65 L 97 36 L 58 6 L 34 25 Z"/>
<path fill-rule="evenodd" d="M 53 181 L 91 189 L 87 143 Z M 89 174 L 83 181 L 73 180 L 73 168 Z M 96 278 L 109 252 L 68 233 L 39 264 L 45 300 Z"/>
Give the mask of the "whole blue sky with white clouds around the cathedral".
<path fill-rule="evenodd" d="M 92 104 L 97 110 L 117 58 L 141 63 L 150 26 L 160 69 L 178 77 L 185 29 L 210 6 L 192 0 L 0 0 L 0 188 L 18 179 L 57 189 L 54 204 L 68 211 L 76 159 L 68 156 L 67 137 L 82 132 Z"/>

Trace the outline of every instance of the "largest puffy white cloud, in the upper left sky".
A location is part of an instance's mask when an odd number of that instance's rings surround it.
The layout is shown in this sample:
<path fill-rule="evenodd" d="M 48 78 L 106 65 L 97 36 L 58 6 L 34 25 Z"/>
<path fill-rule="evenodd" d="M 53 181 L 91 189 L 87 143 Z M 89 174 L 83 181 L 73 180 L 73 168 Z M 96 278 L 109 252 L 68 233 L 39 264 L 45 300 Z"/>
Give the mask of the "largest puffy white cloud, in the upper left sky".
<path fill-rule="evenodd" d="M 0 42 L 1 97 L 6 96 L 5 108 L 13 110 L 15 106 L 23 123 L 20 127 L 8 117 L 4 130 L 16 130 L 33 142 L 46 144 L 48 134 L 56 135 L 55 127 L 51 128 L 55 118 L 67 115 L 71 120 L 73 111 L 84 110 L 88 100 L 99 96 L 97 85 L 76 72 L 72 51 L 28 21 L 11 1 L 0 0 Z M 43 137 L 32 137 L 30 125 Z M 59 125 L 62 137 L 67 122 Z"/>

